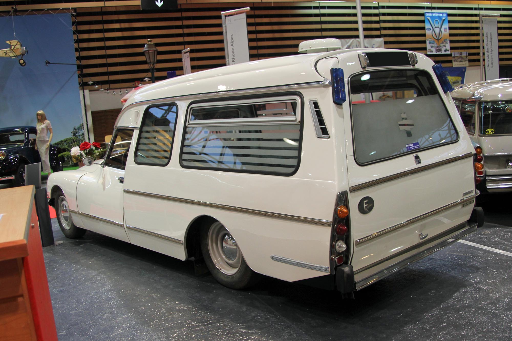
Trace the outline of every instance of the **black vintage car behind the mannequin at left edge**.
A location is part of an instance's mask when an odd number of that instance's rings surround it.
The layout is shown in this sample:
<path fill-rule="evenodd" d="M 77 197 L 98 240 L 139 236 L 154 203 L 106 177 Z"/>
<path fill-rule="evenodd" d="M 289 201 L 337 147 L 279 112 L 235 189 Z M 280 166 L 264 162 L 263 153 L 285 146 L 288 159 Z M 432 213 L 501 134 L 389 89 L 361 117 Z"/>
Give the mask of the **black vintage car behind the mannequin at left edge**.
<path fill-rule="evenodd" d="M 35 150 L 35 126 L 0 128 L 0 183 L 13 181 L 15 186 L 25 184 L 25 165 L 41 162 Z M 60 148 L 50 145 L 52 172 L 62 171 Z"/>

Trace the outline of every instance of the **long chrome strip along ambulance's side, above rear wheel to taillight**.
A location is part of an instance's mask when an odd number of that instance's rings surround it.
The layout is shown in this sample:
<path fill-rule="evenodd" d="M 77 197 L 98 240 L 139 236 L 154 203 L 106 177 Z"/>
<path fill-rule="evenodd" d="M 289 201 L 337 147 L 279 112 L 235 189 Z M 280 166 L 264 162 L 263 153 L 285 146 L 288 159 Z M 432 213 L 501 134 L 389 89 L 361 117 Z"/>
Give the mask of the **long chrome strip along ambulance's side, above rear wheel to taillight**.
<path fill-rule="evenodd" d="M 254 214 L 254 215 L 259 215 L 259 216 L 264 216 L 264 217 L 287 219 L 287 220 L 298 221 L 298 222 L 308 223 L 308 224 L 317 224 L 317 225 L 324 225 L 324 226 L 331 226 L 332 225 L 332 221 L 330 221 L 330 220 L 306 218 L 306 217 L 299 217 L 299 216 L 291 216 L 291 215 L 285 215 L 285 214 L 281 214 L 281 213 L 261 211 L 261 210 L 258 210 L 258 209 L 251 209 L 251 208 L 244 208 L 244 207 L 237 207 L 237 206 L 215 204 L 215 203 L 204 202 L 204 201 L 199 201 L 199 200 L 191 200 L 191 199 L 169 197 L 169 196 L 164 196 L 164 195 L 160 195 L 160 194 L 152 194 L 152 193 L 141 192 L 141 191 L 133 190 L 133 189 L 126 189 L 126 188 L 124 188 L 123 190 L 124 190 L 124 193 L 135 194 L 135 195 L 140 195 L 140 196 L 145 196 L 145 197 L 150 197 L 150 198 L 157 198 L 157 199 L 164 199 L 164 200 L 170 200 L 170 201 L 183 202 L 183 203 L 187 203 L 187 204 L 201 205 L 201 206 L 206 206 L 206 207 L 214 207 L 214 208 L 220 208 L 220 209 L 227 209 L 227 210 L 236 211 L 236 212 L 249 213 L 249 214 Z"/>

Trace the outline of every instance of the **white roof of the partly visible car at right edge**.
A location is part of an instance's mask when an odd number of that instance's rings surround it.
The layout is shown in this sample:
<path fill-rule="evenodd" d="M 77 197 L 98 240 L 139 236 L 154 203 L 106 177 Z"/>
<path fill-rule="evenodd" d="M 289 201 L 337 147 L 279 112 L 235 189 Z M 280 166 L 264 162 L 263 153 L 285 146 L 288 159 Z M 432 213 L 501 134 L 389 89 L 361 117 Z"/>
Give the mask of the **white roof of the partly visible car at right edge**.
<path fill-rule="evenodd" d="M 452 91 L 452 97 L 454 98 L 470 99 L 474 96 L 477 100 L 510 100 L 512 99 L 512 79 L 493 79 L 463 84 Z M 479 96 L 482 98 L 479 98 Z"/>

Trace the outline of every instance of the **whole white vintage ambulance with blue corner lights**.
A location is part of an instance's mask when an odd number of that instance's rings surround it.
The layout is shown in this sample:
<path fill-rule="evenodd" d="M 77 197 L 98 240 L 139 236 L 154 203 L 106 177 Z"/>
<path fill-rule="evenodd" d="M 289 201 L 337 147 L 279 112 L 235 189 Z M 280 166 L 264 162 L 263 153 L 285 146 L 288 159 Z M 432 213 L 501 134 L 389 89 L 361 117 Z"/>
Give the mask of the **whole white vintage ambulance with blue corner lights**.
<path fill-rule="evenodd" d="M 49 177 L 63 233 L 204 262 L 231 288 L 351 295 L 474 231 L 475 150 L 441 65 L 322 44 L 135 92 L 104 160 Z"/>

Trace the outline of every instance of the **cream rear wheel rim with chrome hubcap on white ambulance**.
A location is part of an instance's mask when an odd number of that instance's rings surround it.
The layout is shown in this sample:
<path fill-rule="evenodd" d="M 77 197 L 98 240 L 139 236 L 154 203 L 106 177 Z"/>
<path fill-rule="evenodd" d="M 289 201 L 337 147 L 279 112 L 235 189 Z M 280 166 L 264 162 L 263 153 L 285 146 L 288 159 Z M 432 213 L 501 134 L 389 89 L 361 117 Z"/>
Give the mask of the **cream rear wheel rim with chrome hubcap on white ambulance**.
<path fill-rule="evenodd" d="M 233 275 L 240 269 L 242 253 L 229 231 L 219 222 L 211 225 L 208 231 L 208 251 L 217 269 Z"/>

